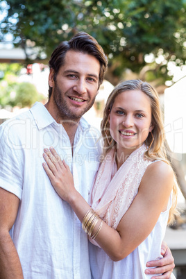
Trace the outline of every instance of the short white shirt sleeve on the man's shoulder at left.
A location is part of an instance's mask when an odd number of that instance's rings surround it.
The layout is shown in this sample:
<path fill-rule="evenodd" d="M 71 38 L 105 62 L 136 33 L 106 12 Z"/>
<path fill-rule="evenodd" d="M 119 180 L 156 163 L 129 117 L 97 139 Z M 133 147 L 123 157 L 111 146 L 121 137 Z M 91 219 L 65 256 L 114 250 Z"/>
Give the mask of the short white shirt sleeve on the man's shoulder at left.
<path fill-rule="evenodd" d="M 0 126 L 0 187 L 22 198 L 23 151 L 11 126 Z"/>

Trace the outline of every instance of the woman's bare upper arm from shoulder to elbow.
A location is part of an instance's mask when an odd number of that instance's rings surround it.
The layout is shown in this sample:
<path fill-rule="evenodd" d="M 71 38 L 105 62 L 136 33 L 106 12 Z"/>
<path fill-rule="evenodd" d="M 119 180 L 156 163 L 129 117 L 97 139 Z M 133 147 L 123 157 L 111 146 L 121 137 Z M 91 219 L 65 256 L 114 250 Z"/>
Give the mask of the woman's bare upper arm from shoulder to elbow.
<path fill-rule="evenodd" d="M 119 257 L 126 257 L 151 233 L 160 213 L 167 208 L 173 183 L 168 164 L 155 162 L 146 169 L 137 196 L 117 226 L 121 236 Z"/>

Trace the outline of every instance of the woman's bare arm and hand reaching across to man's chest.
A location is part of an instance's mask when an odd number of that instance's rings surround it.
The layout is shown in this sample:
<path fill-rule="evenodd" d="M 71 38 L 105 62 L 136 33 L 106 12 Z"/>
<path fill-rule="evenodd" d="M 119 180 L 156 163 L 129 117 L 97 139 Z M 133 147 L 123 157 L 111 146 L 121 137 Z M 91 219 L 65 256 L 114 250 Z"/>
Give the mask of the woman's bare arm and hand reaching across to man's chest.
<path fill-rule="evenodd" d="M 90 205 L 76 191 L 67 164 L 60 160 L 54 149 L 51 149 L 51 153 L 48 151 L 44 153 L 47 164 L 43 167 L 56 192 L 71 205 L 82 222 L 86 212 L 90 210 Z M 137 196 L 119 222 L 117 230 L 103 223 L 96 242 L 112 260 L 117 261 L 126 257 L 151 233 L 160 212 L 167 207 L 171 185 L 173 185 L 171 167 L 164 162 L 151 164 L 142 178 Z M 95 230 L 98 226 L 99 223 Z"/>

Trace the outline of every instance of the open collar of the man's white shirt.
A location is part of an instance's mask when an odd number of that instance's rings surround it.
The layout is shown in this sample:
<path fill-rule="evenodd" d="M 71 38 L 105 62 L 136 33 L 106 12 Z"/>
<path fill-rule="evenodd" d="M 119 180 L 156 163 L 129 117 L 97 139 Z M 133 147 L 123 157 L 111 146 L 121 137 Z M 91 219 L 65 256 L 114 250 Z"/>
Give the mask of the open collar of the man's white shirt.
<path fill-rule="evenodd" d="M 53 119 L 47 108 L 45 108 L 42 103 L 36 102 L 30 110 L 39 130 L 49 126 L 52 123 L 60 125 L 55 119 Z M 83 130 L 90 128 L 90 124 L 88 124 L 83 117 L 81 117 L 79 121 L 79 126 L 81 126 Z"/>

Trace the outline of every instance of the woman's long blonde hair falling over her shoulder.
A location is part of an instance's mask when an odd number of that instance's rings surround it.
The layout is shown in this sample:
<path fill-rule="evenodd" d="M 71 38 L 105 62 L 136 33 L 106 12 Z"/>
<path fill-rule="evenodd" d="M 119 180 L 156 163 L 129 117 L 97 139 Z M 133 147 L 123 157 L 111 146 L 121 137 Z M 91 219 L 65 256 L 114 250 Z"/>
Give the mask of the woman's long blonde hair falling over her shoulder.
<path fill-rule="evenodd" d="M 112 90 L 111 94 L 108 96 L 107 103 L 105 104 L 105 109 L 103 111 L 103 119 L 101 121 L 101 134 L 103 137 L 103 155 L 105 156 L 113 146 L 116 145 L 115 140 L 112 139 L 110 135 L 110 124 L 108 121 L 108 117 L 110 111 L 112 110 L 112 105 L 115 102 L 116 97 L 125 91 L 141 91 L 144 92 L 151 101 L 151 124 L 153 125 L 153 130 L 149 133 L 146 138 L 146 146 L 149 146 L 145 157 L 149 160 L 162 160 L 167 164 L 171 165 L 169 160 L 167 159 L 167 152 L 164 146 L 165 138 L 164 138 L 164 124 L 162 121 L 162 111 L 160 108 L 160 100 L 158 96 L 158 92 L 156 92 L 155 88 L 153 88 L 149 83 L 140 81 L 140 80 L 130 80 L 123 81 L 119 83 L 114 90 Z M 177 182 L 176 176 L 174 174 L 174 185 L 173 185 L 173 201 L 171 210 L 169 212 L 169 221 L 168 223 L 172 223 L 174 221 L 175 215 L 178 215 L 178 210 L 176 210 L 177 203 Z"/>

